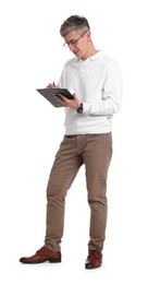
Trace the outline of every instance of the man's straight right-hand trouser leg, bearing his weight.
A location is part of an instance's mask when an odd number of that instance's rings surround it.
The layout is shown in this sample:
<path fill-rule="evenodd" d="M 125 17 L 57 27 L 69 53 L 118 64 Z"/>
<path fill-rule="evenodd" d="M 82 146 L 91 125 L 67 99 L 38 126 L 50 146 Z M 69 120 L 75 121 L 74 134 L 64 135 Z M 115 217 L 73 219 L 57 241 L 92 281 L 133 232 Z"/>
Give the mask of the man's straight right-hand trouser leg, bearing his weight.
<path fill-rule="evenodd" d="M 112 155 L 109 134 L 88 135 L 84 153 L 88 203 L 90 206 L 89 251 L 103 248 L 107 225 L 107 176 Z"/>

